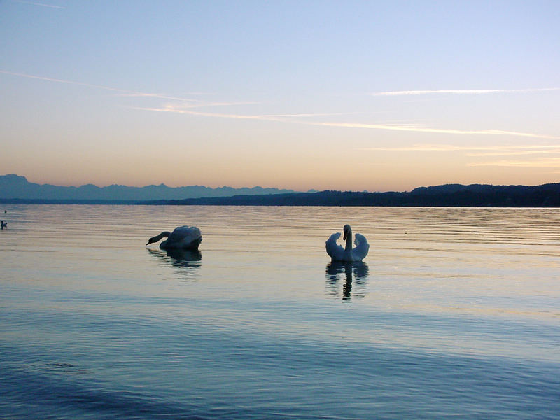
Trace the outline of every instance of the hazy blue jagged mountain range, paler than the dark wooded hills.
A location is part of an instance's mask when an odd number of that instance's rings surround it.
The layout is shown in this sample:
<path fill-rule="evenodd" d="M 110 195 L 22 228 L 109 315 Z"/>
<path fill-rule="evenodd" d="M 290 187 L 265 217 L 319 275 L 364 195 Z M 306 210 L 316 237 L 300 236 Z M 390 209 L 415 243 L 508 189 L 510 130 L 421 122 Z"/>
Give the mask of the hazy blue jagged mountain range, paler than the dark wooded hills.
<path fill-rule="evenodd" d="M 52 186 L 30 183 L 25 176 L 15 174 L 0 176 L 0 199 L 18 200 L 71 200 L 71 201 L 113 201 L 135 202 L 148 200 L 180 200 L 195 197 L 228 197 L 230 195 L 260 195 L 293 193 L 292 190 L 277 188 L 210 188 L 204 186 L 168 187 L 159 186 L 128 187 L 112 185 L 98 187 L 87 184 L 80 187 Z"/>

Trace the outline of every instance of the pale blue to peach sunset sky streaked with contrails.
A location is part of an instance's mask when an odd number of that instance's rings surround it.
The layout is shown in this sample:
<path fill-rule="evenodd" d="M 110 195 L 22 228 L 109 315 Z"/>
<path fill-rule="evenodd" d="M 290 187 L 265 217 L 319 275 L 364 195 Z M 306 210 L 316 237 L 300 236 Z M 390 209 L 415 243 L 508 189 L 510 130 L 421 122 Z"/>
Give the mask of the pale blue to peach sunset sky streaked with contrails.
<path fill-rule="evenodd" d="M 0 0 L 0 174 L 560 181 L 560 1 Z"/>

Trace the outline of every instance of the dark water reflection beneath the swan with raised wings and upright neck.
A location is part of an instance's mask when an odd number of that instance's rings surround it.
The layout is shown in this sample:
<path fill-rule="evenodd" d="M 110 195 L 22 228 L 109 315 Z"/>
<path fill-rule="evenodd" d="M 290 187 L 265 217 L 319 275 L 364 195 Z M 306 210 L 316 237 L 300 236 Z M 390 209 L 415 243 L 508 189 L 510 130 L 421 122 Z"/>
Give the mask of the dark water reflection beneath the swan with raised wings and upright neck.
<path fill-rule="evenodd" d="M 331 261 L 326 269 L 326 286 L 332 297 L 340 297 L 339 280 L 342 277 L 342 300 L 350 300 L 353 297 L 364 297 L 369 268 L 362 261 L 342 262 Z M 355 281 L 354 281 L 355 280 Z"/>

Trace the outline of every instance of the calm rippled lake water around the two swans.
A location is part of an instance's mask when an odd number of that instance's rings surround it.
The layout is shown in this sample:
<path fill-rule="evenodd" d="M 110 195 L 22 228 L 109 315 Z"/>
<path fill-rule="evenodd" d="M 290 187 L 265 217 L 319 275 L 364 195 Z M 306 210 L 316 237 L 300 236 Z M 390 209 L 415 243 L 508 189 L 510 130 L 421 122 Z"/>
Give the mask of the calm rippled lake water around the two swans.
<path fill-rule="evenodd" d="M 560 416 L 560 209 L 4 209 L 0 419 Z"/>

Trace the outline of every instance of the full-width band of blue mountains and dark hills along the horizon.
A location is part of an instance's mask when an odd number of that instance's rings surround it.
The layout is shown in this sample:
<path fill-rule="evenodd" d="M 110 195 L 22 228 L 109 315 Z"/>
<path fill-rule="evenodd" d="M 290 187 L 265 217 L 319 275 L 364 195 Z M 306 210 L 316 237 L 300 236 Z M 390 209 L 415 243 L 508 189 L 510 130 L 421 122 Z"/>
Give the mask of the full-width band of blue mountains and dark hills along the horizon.
<path fill-rule="evenodd" d="M 560 183 L 541 186 L 445 184 L 405 193 L 321 191 L 295 193 L 276 188 L 188 186 L 80 187 L 29 183 L 25 176 L 0 176 L 0 202 L 75 204 L 156 204 L 214 206 L 418 206 L 560 207 Z"/>

